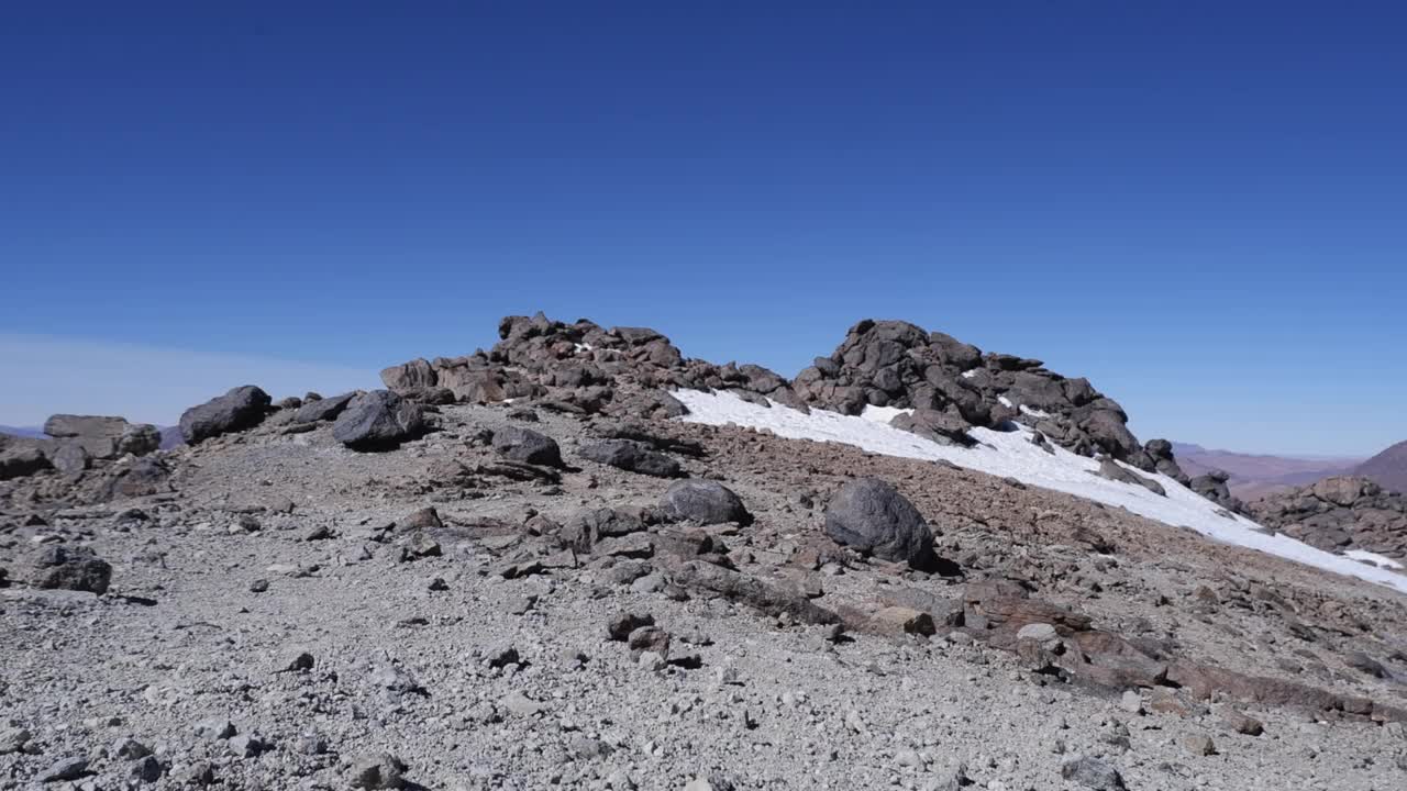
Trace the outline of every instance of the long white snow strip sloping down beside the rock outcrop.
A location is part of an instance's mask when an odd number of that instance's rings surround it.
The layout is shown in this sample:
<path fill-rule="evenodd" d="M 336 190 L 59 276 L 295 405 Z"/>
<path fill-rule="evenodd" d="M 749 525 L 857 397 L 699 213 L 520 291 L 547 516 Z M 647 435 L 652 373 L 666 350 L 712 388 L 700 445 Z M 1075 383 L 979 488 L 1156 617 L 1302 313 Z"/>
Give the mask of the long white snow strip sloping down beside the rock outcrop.
<path fill-rule="evenodd" d="M 947 460 L 969 470 L 1013 477 L 1024 484 L 1123 507 L 1166 525 L 1192 528 L 1214 540 L 1256 549 L 1407 593 L 1407 576 L 1393 573 L 1390 564 L 1394 562 L 1386 557 L 1366 557 L 1365 555 L 1370 553 L 1359 553 L 1361 559 L 1372 560 L 1383 567 L 1370 566 L 1354 557 L 1314 549 L 1289 536 L 1269 535 L 1262 532 L 1261 525 L 1244 517 L 1228 515 L 1210 500 L 1164 474 L 1128 467 L 1135 474 L 1157 480 L 1168 493 L 1166 497 L 1159 497 L 1141 486 L 1099 477 L 1095 474 L 1099 470 L 1099 462 L 1078 456 L 1064 448 L 1055 448 L 1054 455 L 1047 453 L 1030 442 L 1031 429 L 1026 426 L 1010 432 L 975 428 L 969 434 L 978 445 L 958 448 L 940 445 L 888 425 L 891 419 L 908 410 L 867 407 L 861 417 L 812 410 L 808 415 L 775 401 L 771 403 L 771 407 L 751 404 L 732 393 L 675 390 L 673 396 L 689 410 L 688 415 L 680 418 L 685 422 L 765 428 L 778 436 L 791 439 L 839 442 L 872 453 L 906 459 Z M 1383 563 L 1384 560 L 1387 563 Z"/>

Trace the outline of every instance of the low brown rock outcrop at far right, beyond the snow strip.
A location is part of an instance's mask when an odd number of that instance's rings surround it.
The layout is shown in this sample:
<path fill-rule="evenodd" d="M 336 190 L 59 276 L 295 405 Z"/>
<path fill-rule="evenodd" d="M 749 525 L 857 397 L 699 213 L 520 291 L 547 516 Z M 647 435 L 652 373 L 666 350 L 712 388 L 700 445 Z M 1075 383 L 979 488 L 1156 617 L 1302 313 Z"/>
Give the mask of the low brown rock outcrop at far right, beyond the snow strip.
<path fill-rule="evenodd" d="M 1366 477 L 1328 477 L 1252 504 L 1256 521 L 1328 552 L 1407 560 L 1407 495 Z"/>

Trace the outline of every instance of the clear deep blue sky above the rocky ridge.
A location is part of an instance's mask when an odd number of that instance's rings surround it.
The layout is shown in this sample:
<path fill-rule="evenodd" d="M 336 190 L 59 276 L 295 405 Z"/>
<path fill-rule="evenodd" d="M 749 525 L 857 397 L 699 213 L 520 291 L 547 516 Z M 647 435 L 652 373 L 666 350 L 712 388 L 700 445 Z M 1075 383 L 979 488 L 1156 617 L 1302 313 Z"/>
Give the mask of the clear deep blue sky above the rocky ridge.
<path fill-rule="evenodd" d="M 7 4 L 0 422 L 545 310 L 788 376 L 905 318 L 1144 438 L 1407 438 L 1407 6 L 681 6 Z"/>

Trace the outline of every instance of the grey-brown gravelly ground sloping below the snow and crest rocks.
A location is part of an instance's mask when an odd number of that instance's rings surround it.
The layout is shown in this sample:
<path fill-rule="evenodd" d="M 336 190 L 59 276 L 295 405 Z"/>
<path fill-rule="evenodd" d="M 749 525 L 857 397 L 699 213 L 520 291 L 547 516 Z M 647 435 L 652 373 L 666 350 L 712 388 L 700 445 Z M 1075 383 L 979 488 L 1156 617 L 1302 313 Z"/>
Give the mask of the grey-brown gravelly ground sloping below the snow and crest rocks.
<path fill-rule="evenodd" d="M 290 417 L 160 452 L 155 494 L 0 484 L 0 567 L 21 580 L 0 590 L 0 787 L 1407 784 L 1407 601 L 1384 588 L 979 473 L 651 421 L 754 517 L 685 526 L 709 569 L 765 590 L 711 587 L 656 524 L 673 481 L 578 455 L 616 418 L 446 405 L 438 431 L 359 453 Z M 509 425 L 567 469 L 502 466 L 487 432 Z M 950 576 L 825 536 L 860 476 L 913 501 Z M 582 546 L 595 508 L 643 526 Z M 23 584 L 52 543 L 111 563 L 107 593 Z M 1110 685 L 988 631 L 964 600 L 998 580 L 1166 673 Z M 933 626 L 879 615 L 896 602 Z M 620 614 L 658 631 L 632 650 L 608 636 Z"/>

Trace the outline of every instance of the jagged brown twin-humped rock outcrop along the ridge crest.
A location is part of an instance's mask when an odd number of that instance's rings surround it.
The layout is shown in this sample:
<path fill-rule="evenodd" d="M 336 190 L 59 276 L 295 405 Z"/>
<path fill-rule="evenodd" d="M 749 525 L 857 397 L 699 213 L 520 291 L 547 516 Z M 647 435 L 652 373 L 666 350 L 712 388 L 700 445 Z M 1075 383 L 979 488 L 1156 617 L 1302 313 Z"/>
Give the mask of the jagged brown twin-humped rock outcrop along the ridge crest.
<path fill-rule="evenodd" d="M 381 380 L 401 396 L 432 403 L 535 398 L 563 411 L 635 417 L 684 414 L 670 388 L 723 390 L 760 404 L 843 414 L 896 407 L 912 414 L 896 417 L 895 426 L 955 443 L 969 443 L 974 426 L 1003 429 L 1016 421 L 1075 453 L 1189 481 L 1172 445 L 1140 445 L 1124 410 L 1089 380 L 1067 379 L 1040 360 L 983 353 L 908 322 L 861 321 L 795 381 L 756 365 L 687 359 L 647 328 L 564 324 L 539 312 L 504 318 L 498 334 L 488 352 L 411 360 L 383 370 Z"/>

